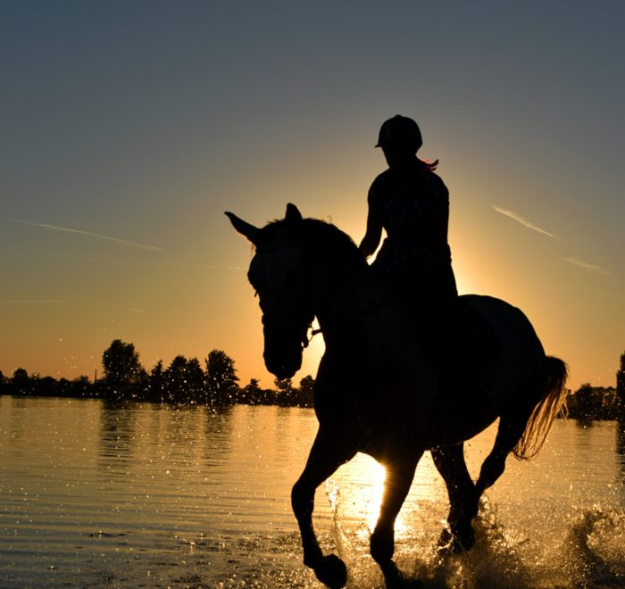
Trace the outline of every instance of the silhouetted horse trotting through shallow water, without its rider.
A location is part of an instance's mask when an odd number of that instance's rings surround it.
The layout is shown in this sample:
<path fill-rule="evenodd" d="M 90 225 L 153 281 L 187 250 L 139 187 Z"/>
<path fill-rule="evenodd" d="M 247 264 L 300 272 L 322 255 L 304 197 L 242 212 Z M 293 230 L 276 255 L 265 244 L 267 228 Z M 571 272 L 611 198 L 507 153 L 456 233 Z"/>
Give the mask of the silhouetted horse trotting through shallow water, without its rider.
<path fill-rule="evenodd" d="M 394 525 L 423 452 L 431 452 L 449 497 L 440 542 L 470 549 L 479 498 L 504 473 L 508 454 L 529 460 L 544 443 L 564 404 L 566 364 L 546 355 L 516 307 L 462 295 L 462 304 L 494 334 L 497 353 L 479 366 L 479 386 L 450 386 L 432 361 L 428 338 L 406 320 L 404 303 L 344 232 L 304 219 L 290 203 L 283 220 L 263 228 L 226 215 L 254 245 L 247 276 L 259 296 L 267 369 L 280 379 L 296 374 L 315 317 L 326 345 L 314 386 L 319 429 L 291 494 L 304 565 L 325 585 L 346 585 L 345 563 L 321 551 L 312 510 L 315 489 L 356 452 L 378 460 L 387 473 L 370 539 L 387 586 L 404 578 L 393 561 Z M 463 443 L 497 418 L 495 444 L 473 482 Z"/>

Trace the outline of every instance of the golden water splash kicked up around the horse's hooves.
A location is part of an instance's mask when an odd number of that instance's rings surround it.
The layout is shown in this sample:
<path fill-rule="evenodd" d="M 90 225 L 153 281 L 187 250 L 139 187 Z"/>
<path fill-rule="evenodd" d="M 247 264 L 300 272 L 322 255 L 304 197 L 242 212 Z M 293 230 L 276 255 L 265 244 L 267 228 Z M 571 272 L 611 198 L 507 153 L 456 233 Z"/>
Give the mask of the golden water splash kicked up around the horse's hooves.
<path fill-rule="evenodd" d="M 349 571 L 348 586 L 379 587 L 384 580 L 369 553 L 366 521 L 350 527 L 335 480 L 326 483 L 334 513 L 333 536 Z M 625 511 L 596 506 L 575 513 L 552 513 L 550 533 L 500 515 L 496 502 L 482 497 L 473 521 L 476 544 L 454 553 L 437 546 L 443 525 L 438 506 L 427 502 L 410 514 L 412 532 L 396 535 L 396 563 L 407 584 L 451 589 L 556 586 L 625 586 Z M 537 517 L 544 518 L 544 506 Z M 354 522 L 352 522 L 353 524 Z M 444 524 L 445 522 L 443 522 Z"/>

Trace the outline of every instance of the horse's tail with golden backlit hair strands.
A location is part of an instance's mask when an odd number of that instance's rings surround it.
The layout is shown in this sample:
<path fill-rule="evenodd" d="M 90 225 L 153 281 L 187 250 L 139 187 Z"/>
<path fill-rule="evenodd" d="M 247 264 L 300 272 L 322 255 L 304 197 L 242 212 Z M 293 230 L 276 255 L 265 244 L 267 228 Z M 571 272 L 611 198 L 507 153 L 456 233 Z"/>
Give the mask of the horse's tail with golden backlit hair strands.
<path fill-rule="evenodd" d="M 545 444 L 546 436 L 559 412 L 566 415 L 566 362 L 546 356 L 543 377 L 543 396 L 529 416 L 521 439 L 512 449 L 518 460 L 531 460 Z"/>

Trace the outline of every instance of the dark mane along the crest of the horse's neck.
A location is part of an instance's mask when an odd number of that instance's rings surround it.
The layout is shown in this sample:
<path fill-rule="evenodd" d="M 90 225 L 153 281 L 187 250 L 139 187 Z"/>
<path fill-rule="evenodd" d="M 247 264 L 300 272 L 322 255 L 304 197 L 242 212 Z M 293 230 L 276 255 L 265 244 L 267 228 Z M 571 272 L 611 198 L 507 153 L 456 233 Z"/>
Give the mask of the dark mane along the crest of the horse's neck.
<path fill-rule="evenodd" d="M 271 247 L 279 231 L 286 231 L 288 242 L 309 250 L 324 265 L 358 272 L 369 268 L 354 240 L 336 225 L 320 219 L 303 219 L 296 225 L 285 219 L 274 220 L 261 229 L 258 245 Z"/>

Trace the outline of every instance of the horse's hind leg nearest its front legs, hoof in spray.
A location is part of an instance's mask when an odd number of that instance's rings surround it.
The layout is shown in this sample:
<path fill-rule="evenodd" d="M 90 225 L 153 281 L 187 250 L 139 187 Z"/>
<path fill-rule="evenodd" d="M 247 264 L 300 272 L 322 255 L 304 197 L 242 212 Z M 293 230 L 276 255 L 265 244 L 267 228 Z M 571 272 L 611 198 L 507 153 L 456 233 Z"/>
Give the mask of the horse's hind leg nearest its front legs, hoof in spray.
<path fill-rule="evenodd" d="M 453 541 L 454 550 L 469 550 L 475 543 L 471 519 L 478 515 L 479 494 L 464 461 L 464 446 L 456 444 L 433 448 L 431 453 L 438 472 L 445 480 L 450 505 L 447 523 L 451 535 L 443 530 L 440 543 Z"/>

